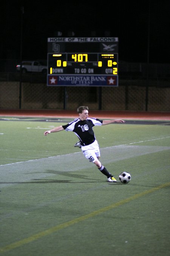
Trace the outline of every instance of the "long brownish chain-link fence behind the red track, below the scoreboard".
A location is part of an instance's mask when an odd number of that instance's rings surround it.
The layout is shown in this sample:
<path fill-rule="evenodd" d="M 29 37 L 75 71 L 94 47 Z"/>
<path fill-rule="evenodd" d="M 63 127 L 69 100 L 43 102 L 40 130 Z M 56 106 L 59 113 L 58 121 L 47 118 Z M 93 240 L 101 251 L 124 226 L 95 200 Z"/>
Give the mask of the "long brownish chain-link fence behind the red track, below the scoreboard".
<path fill-rule="evenodd" d="M 125 78 L 118 87 L 59 87 L 25 80 L 0 82 L 0 108 L 75 110 L 88 105 L 91 110 L 145 111 L 147 93 L 148 111 L 170 111 L 169 79 L 149 79 L 147 84 L 144 78 Z"/>

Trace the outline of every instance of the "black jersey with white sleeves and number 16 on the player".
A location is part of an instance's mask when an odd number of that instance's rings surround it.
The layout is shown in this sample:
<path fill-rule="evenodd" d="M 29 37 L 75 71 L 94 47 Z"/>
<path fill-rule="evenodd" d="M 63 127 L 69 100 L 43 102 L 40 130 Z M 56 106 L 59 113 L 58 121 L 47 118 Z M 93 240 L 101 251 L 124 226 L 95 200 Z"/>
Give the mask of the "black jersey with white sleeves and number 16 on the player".
<path fill-rule="evenodd" d="M 76 118 L 74 121 L 63 125 L 62 127 L 66 131 L 74 132 L 81 141 L 81 145 L 87 146 L 96 140 L 93 132 L 93 126 L 100 126 L 102 123 L 103 121 L 97 118 L 87 118 L 87 120 L 84 121 Z"/>

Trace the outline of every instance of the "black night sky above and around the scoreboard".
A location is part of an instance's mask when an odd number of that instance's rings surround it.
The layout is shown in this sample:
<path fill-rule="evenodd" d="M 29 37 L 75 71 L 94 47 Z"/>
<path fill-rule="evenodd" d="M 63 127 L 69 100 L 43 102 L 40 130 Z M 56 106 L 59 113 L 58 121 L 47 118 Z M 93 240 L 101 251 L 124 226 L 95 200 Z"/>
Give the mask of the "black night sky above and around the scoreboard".
<path fill-rule="evenodd" d="M 150 2 L 150 19 L 149 19 Z M 119 60 L 128 62 L 147 62 L 148 28 L 149 61 L 151 63 L 170 63 L 169 30 L 170 1 L 45 1 L 13 0 L 3 1 L 1 5 L 2 33 L 0 58 L 20 59 L 21 44 L 21 6 L 23 14 L 23 59 L 45 60 L 47 58 L 47 38 L 97 37 L 119 38 Z M 149 22 L 150 21 L 150 22 Z"/>

